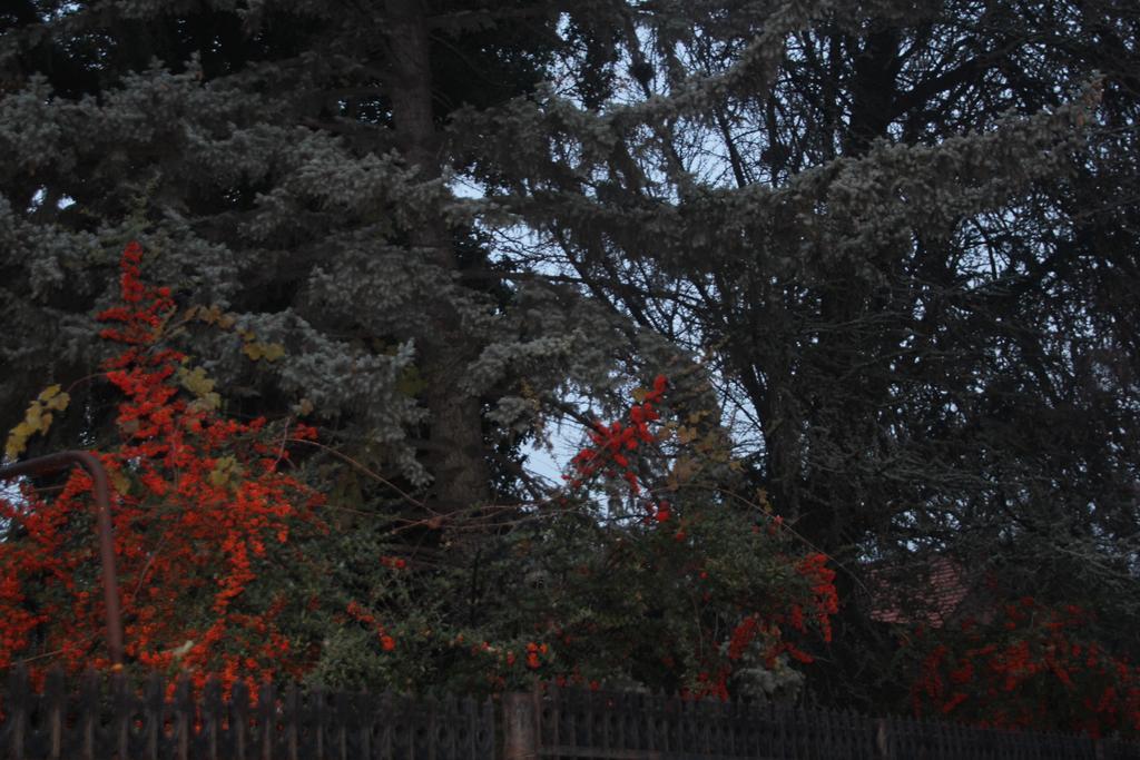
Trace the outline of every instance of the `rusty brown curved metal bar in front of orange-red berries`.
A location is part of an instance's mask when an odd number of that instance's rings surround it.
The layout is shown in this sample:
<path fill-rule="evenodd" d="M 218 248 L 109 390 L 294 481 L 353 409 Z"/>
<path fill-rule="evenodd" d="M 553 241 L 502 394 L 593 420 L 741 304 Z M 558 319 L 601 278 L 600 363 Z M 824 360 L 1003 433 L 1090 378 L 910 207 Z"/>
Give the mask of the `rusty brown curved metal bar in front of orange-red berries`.
<path fill-rule="evenodd" d="M 0 480 L 40 475 L 80 465 L 91 475 L 98 509 L 99 558 L 103 563 L 103 596 L 107 605 L 107 648 L 115 670 L 123 667 L 123 616 L 119 605 L 119 578 L 115 573 L 114 528 L 111 522 L 111 484 L 99 458 L 89 451 L 60 451 L 46 457 L 0 467 Z"/>

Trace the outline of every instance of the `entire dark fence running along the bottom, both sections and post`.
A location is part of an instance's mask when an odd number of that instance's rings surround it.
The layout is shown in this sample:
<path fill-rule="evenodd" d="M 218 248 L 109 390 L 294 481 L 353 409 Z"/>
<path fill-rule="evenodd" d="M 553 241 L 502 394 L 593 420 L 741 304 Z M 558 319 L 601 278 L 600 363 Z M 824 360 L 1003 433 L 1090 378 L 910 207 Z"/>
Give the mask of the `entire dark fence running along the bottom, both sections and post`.
<path fill-rule="evenodd" d="M 13 669 L 0 696 L 7 760 L 1050 760 L 1140 759 L 1140 744 L 972 729 L 853 712 L 560 690 L 500 703 L 275 690 L 193 697 L 85 676 L 36 693 Z"/>

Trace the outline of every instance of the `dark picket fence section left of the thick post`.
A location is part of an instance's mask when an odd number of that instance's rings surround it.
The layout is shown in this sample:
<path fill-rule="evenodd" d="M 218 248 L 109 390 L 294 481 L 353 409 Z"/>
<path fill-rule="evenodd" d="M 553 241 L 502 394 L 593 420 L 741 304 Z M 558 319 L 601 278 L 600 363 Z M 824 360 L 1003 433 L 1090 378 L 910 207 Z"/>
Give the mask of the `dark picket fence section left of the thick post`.
<path fill-rule="evenodd" d="M 0 758 L 6 760 L 491 760 L 490 701 L 413 701 L 392 694 L 345 694 L 295 686 L 244 686 L 229 700 L 217 684 L 193 698 L 181 680 L 141 690 L 122 677 L 88 675 L 79 689 L 48 676 L 35 694 L 22 669 L 0 700 Z"/>

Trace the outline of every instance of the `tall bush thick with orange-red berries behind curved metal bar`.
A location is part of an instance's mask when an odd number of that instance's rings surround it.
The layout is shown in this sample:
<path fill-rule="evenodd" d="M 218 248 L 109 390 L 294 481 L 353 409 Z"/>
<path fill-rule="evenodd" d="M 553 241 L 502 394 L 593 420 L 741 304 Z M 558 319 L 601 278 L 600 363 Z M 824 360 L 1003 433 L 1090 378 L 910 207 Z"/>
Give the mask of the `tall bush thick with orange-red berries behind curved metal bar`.
<path fill-rule="evenodd" d="M 101 459 L 116 491 L 127 655 L 146 669 L 185 669 L 199 686 L 206 673 L 227 688 L 238 672 L 300 677 L 312 655 L 282 621 L 307 599 L 282 574 L 312 571 L 292 545 L 320 529 L 311 512 L 319 498 L 280 472 L 288 450 L 263 418 L 219 415 L 201 367 L 165 346 L 177 310 L 169 288 L 139 279 L 141 258 L 138 245 L 127 248 L 122 304 L 99 314 L 117 324 L 101 337 L 122 349 L 103 362 L 121 401 L 120 443 Z M 5 667 L 30 655 L 73 671 L 109 664 L 90 488 L 76 471 L 55 498 L 30 488 L 0 502 L 9 529 L 0 545 Z"/>

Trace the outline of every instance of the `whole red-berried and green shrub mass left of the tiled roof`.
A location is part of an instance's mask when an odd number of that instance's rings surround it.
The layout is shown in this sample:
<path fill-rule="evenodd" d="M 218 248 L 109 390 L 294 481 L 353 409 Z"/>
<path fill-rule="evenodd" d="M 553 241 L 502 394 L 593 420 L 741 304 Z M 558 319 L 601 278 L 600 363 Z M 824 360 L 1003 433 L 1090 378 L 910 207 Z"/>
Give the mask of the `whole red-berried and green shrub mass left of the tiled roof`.
<path fill-rule="evenodd" d="M 194 322 L 217 328 L 228 318 L 180 309 L 169 287 L 144 283 L 141 261 L 142 248 L 130 244 L 122 302 L 98 317 L 119 325 L 100 337 L 123 346 L 97 377 L 122 397 L 120 441 L 101 458 L 117 497 L 132 670 L 188 671 L 198 686 L 213 676 L 227 690 L 237 679 L 255 689 L 267 678 L 310 676 L 466 690 L 625 680 L 726 698 L 733 679 L 738 693 L 793 692 L 799 675 L 789 663 L 811 662 L 805 641 L 830 640 L 834 572 L 821 554 L 793 554 L 774 524 L 759 530 L 763 513 L 642 499 L 643 514 L 603 516 L 576 493 L 596 477 L 616 480 L 620 467 L 641 495 L 642 452 L 668 438 L 650 428 L 668 385 L 660 375 L 638 393 L 628 426 L 596 423 L 556 504 L 507 508 L 507 520 L 534 526 L 466 522 L 484 534 L 488 554 L 473 567 L 433 567 L 408 547 L 410 563 L 357 549 L 344 566 L 336 539 L 323 538 L 329 505 L 285 472 L 293 448 L 315 443 L 315 428 L 220 414 L 213 381 L 170 344 Z M 256 358 L 280 352 L 249 340 L 245 348 Z M 71 392 L 34 402 L 9 450 L 49 432 L 52 419 L 39 407 Z M 108 665 L 91 589 L 98 567 L 80 529 L 90 522 L 90 487 L 76 472 L 55 498 L 28 484 L 23 498 L 0 502 L 8 525 L 0 613 L 9 621 L 0 664 L 30 661 L 36 673 L 55 663 Z M 400 528 L 388 526 L 390 541 Z M 469 573 L 472 588 L 461 591 L 456 581 Z M 510 580 L 519 573 L 521 585 Z"/>

